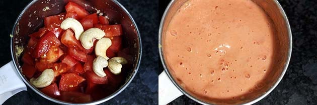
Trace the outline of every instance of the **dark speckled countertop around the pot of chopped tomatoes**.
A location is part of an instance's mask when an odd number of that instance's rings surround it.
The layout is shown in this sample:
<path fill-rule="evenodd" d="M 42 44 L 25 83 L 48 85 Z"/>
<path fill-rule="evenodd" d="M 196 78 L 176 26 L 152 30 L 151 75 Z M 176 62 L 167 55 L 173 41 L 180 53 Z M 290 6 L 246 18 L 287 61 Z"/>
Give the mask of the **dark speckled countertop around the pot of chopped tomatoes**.
<path fill-rule="evenodd" d="M 0 65 L 8 63 L 10 32 L 18 14 L 31 0 L 0 0 Z M 131 13 L 141 32 L 143 53 L 139 70 L 119 95 L 102 104 L 157 104 L 157 31 L 158 0 L 118 0 Z M 1 89 L 1 88 L 0 88 Z M 4 104 L 56 104 L 36 94 L 30 88 L 9 98 Z"/>

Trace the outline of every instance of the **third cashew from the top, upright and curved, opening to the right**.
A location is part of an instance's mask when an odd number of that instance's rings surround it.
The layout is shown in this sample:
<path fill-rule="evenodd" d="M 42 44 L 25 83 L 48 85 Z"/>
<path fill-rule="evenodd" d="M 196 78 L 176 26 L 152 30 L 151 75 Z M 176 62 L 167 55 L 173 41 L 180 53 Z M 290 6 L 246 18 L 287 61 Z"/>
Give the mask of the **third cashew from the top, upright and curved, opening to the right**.
<path fill-rule="evenodd" d="M 111 39 L 108 37 L 103 37 L 100 40 L 97 41 L 95 46 L 95 53 L 97 56 L 103 56 L 107 60 L 109 57 L 107 56 L 107 49 L 111 45 Z"/>

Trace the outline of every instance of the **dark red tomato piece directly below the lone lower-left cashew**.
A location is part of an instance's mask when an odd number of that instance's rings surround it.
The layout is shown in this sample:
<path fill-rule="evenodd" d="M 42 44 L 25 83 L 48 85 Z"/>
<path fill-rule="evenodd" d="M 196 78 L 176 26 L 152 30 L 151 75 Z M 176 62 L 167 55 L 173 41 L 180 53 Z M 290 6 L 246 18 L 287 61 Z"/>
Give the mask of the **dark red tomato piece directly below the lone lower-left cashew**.
<path fill-rule="evenodd" d="M 60 91 L 58 90 L 57 84 L 55 82 L 51 83 L 51 85 L 40 89 L 43 93 L 50 97 L 58 97 L 60 96 Z"/>

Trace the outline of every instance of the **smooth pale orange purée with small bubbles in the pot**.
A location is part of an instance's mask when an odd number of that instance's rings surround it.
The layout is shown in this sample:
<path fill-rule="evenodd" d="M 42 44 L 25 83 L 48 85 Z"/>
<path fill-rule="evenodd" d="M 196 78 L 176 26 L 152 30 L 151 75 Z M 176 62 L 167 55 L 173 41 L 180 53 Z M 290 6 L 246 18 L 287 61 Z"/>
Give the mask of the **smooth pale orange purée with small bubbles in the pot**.
<path fill-rule="evenodd" d="M 203 100 L 242 98 L 274 60 L 273 23 L 251 0 L 189 0 L 163 35 L 173 77 Z"/>

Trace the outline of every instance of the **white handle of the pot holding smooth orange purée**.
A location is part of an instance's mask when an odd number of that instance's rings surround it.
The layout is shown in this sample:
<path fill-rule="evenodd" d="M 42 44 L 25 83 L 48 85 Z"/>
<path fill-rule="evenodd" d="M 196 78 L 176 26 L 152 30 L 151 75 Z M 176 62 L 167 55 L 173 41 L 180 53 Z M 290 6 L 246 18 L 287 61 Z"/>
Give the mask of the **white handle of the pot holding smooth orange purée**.
<path fill-rule="evenodd" d="M 168 104 L 179 96 L 181 92 L 171 81 L 169 76 L 163 71 L 159 75 L 159 105 Z"/>

